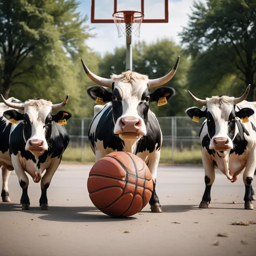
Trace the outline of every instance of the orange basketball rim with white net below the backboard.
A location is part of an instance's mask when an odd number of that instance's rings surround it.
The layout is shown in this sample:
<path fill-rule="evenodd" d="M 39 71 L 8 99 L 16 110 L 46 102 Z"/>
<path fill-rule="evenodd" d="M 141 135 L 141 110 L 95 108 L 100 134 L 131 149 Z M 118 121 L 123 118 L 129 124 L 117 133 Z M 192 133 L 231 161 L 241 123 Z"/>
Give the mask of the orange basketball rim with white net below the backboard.
<path fill-rule="evenodd" d="M 140 11 L 123 10 L 114 12 L 113 20 L 117 27 L 118 37 L 132 34 L 139 37 L 139 29 L 143 17 L 144 14 Z"/>

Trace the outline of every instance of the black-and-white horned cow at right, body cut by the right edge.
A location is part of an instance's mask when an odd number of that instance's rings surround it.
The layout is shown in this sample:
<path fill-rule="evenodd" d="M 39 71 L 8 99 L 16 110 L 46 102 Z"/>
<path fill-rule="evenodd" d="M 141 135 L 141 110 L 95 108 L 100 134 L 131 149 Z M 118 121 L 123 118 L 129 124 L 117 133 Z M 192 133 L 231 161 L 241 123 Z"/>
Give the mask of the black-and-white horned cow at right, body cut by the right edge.
<path fill-rule="evenodd" d="M 221 95 L 199 99 L 188 91 L 203 107 L 190 107 L 186 109 L 187 115 L 195 121 L 206 117 L 199 132 L 205 172 L 205 191 L 199 208 L 208 208 L 217 166 L 231 182 L 236 181 L 244 169 L 244 208 L 253 209 L 251 200 L 256 198 L 251 182 L 256 168 L 256 114 L 255 102 L 244 100 L 249 87 L 238 98 Z"/>

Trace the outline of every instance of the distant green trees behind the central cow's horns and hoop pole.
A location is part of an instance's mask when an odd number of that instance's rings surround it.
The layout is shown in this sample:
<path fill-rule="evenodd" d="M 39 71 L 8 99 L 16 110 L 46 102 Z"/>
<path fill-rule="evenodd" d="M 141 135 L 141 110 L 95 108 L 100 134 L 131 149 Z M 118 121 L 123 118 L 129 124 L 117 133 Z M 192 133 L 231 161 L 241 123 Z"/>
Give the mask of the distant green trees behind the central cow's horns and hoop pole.
<path fill-rule="evenodd" d="M 156 43 L 146 44 L 139 42 L 132 49 L 133 70 L 142 74 L 147 74 L 149 78 L 157 78 L 168 73 L 173 67 L 178 55 L 181 55 L 177 71 L 173 78 L 164 86 L 173 87 L 176 95 L 173 96 L 166 105 L 157 107 L 156 102 L 152 102 L 150 109 L 157 116 L 184 115 L 187 96 L 185 93 L 186 73 L 189 62 L 182 54 L 180 46 L 172 41 L 164 39 Z M 125 71 L 125 48 L 115 48 L 114 53 L 106 53 L 99 63 L 99 75 L 109 78 L 112 73 L 119 74 Z M 155 88 L 150 89 L 150 91 Z"/>

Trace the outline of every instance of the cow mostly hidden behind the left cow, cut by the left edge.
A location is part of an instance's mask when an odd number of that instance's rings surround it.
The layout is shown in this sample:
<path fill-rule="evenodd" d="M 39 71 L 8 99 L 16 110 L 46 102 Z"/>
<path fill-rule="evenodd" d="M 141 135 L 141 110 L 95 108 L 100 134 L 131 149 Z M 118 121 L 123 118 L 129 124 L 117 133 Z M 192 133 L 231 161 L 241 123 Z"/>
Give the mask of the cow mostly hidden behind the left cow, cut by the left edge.
<path fill-rule="evenodd" d="M 14 97 L 9 97 L 8 101 L 20 103 L 21 101 Z M 13 166 L 9 156 L 9 133 L 11 123 L 3 116 L 3 112 L 11 109 L 4 103 L 0 103 L 0 167 L 2 169 L 2 190 L 1 197 L 3 202 L 10 202 L 9 190 L 8 190 L 8 177 Z M 22 110 L 18 110 L 23 113 Z"/>

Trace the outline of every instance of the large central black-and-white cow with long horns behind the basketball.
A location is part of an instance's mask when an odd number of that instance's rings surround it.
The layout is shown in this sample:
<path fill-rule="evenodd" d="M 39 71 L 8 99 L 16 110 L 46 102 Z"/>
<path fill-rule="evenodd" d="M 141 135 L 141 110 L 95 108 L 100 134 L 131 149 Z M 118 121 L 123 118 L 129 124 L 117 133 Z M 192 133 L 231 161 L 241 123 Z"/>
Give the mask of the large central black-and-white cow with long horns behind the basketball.
<path fill-rule="evenodd" d="M 148 79 L 147 75 L 133 71 L 112 74 L 110 79 L 106 79 L 93 74 L 82 61 L 84 71 L 92 81 L 112 89 L 108 92 L 104 87 L 94 86 L 87 90 L 92 99 L 101 98 L 102 102 L 108 102 L 104 106 L 94 106 L 94 117 L 88 130 L 95 159 L 97 161 L 112 151 L 131 152 L 143 159 L 153 180 L 149 201 L 152 212 L 162 211 L 155 192 L 162 133 L 149 103 L 164 97 L 168 100 L 175 91 L 171 87 L 160 87 L 149 93 L 149 88 L 169 81 L 178 61 L 179 56 L 172 70 L 157 79 Z"/>

